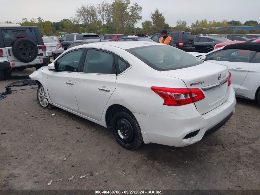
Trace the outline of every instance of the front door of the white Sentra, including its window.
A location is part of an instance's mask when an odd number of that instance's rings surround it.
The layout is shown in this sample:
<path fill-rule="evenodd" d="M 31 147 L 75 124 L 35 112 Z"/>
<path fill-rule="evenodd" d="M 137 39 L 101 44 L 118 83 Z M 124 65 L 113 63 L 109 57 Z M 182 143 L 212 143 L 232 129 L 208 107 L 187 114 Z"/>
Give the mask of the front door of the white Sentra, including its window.
<path fill-rule="evenodd" d="M 55 71 L 49 71 L 47 89 L 55 106 L 79 112 L 75 86 L 83 53 L 84 49 L 67 52 L 55 62 Z"/>

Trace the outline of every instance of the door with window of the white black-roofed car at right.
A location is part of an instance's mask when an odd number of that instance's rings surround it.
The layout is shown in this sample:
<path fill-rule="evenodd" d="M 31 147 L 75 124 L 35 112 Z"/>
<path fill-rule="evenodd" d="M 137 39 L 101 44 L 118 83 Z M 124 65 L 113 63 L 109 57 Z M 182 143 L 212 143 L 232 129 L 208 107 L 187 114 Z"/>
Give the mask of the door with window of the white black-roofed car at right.
<path fill-rule="evenodd" d="M 255 51 L 238 49 L 218 50 L 207 55 L 207 60 L 228 67 L 231 73 L 232 86 L 234 91 L 237 91 L 248 74 L 249 61 L 255 53 Z"/>

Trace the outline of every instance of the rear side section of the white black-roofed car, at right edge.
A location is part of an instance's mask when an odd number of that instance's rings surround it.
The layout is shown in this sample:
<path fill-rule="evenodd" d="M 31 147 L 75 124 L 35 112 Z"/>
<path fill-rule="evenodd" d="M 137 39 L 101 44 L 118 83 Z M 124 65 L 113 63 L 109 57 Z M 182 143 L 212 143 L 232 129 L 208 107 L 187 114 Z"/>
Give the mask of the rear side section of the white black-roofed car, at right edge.
<path fill-rule="evenodd" d="M 257 52 L 249 62 L 249 71 L 246 79 L 236 91 L 238 95 L 255 99 L 255 93 L 260 86 L 260 52 Z"/>

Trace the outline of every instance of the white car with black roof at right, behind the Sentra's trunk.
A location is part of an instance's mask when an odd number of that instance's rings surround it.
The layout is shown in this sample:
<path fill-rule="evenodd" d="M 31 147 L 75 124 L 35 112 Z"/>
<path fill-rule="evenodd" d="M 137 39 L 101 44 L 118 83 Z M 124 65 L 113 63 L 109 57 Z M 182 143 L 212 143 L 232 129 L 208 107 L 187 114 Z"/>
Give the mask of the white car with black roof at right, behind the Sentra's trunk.
<path fill-rule="evenodd" d="M 226 45 L 199 58 L 227 66 L 236 96 L 260 104 L 260 43 Z"/>

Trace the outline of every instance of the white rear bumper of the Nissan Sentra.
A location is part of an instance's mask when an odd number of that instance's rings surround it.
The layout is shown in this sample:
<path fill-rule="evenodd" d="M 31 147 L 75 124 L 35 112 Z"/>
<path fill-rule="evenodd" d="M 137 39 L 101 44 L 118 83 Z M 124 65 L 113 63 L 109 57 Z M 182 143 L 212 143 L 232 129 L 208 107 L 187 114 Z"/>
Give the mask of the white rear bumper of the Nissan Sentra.
<path fill-rule="evenodd" d="M 221 128 L 235 113 L 235 104 L 232 88 L 223 104 L 203 115 L 198 113 L 194 104 L 176 106 L 179 108 L 162 106 L 155 116 L 133 114 L 141 127 L 144 143 L 183 147 Z"/>

